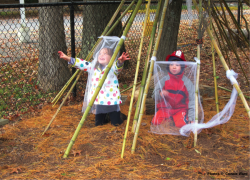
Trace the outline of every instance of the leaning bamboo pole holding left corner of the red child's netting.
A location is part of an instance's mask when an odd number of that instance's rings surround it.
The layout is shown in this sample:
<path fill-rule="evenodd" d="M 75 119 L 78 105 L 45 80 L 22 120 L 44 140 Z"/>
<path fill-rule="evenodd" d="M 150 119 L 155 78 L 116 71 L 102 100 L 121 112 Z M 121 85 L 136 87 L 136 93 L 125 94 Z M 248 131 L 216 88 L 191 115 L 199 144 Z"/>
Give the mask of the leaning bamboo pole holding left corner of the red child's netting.
<path fill-rule="evenodd" d="M 159 46 L 160 39 L 161 39 L 161 34 L 162 34 L 164 19 L 165 19 L 165 15 L 166 15 L 166 11 L 167 11 L 168 1 L 169 0 L 165 0 L 163 10 L 162 10 L 161 21 L 160 21 L 160 25 L 159 25 L 159 31 L 158 31 L 158 35 L 157 35 L 153 55 L 152 55 L 152 58 L 151 58 L 152 61 L 151 61 L 150 68 L 149 68 L 147 83 L 146 83 L 145 90 L 144 90 L 144 93 L 143 93 L 142 105 L 141 105 L 141 109 L 140 109 L 139 119 L 138 119 L 138 122 L 137 122 L 136 131 L 135 131 L 135 134 L 134 134 L 134 140 L 133 140 L 133 145 L 132 145 L 132 149 L 131 149 L 132 154 L 134 154 L 134 152 L 135 152 L 136 142 L 137 142 L 137 139 L 138 139 L 140 124 L 141 124 L 141 121 L 142 121 L 142 115 L 143 115 L 143 111 L 144 111 L 144 106 L 145 106 L 145 103 L 146 103 L 147 93 L 148 93 L 148 89 L 149 89 L 149 85 L 150 85 L 150 80 L 151 80 L 153 69 L 154 69 L 154 61 L 156 60 L 156 54 L 157 54 L 158 46 Z"/>

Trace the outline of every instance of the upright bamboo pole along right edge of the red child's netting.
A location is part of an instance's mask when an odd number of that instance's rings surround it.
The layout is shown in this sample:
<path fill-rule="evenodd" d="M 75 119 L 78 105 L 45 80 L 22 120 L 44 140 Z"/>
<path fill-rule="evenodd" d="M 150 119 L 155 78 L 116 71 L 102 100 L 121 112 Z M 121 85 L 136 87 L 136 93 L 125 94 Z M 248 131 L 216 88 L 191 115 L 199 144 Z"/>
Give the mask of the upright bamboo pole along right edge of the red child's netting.
<path fill-rule="evenodd" d="M 201 19 L 202 19 L 202 0 L 199 0 L 199 27 L 201 26 Z M 198 32 L 198 39 L 201 39 L 201 29 L 200 32 Z M 201 59 L 201 45 L 197 45 L 197 58 Z M 195 85 L 195 123 L 199 123 L 199 103 L 198 103 L 198 97 L 199 97 L 199 80 L 200 80 L 200 63 L 197 63 L 197 73 L 196 73 L 196 85 Z M 197 144 L 197 131 L 194 133 L 194 147 Z"/>

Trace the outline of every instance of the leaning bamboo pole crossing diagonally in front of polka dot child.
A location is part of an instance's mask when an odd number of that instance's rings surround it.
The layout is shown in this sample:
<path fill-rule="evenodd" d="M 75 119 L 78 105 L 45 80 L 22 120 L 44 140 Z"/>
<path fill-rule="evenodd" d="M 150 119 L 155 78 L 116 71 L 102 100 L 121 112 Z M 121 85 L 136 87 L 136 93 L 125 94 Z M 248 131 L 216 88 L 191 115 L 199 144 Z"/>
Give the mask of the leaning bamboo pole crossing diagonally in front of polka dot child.
<path fill-rule="evenodd" d="M 137 14 L 137 12 L 138 12 L 138 10 L 140 8 L 141 3 L 142 3 L 142 0 L 139 0 L 137 2 L 135 10 L 133 11 L 133 15 L 131 16 L 131 18 L 129 20 L 129 23 L 127 24 L 127 26 L 126 26 L 126 28 L 125 28 L 125 30 L 123 32 L 122 38 L 120 39 L 120 41 L 119 41 L 119 43 L 118 43 L 118 45 L 116 47 L 116 50 L 115 50 L 115 52 L 114 52 L 114 54 L 113 54 L 113 56 L 112 56 L 112 58 L 111 58 L 111 60 L 109 62 L 104 74 L 103 74 L 103 77 L 102 77 L 101 81 L 99 82 L 99 84 L 98 84 L 98 86 L 97 86 L 97 88 L 96 88 L 96 90 L 95 90 L 95 92 L 94 92 L 94 94 L 93 94 L 93 96 L 92 96 L 92 98 L 91 98 L 91 100 L 90 100 L 90 102 L 89 102 L 83 116 L 82 116 L 82 119 L 81 119 L 81 121 L 79 122 L 79 124 L 77 126 L 77 129 L 76 129 L 76 131 L 75 131 L 75 133 L 74 133 L 74 135 L 73 135 L 73 137 L 72 137 L 72 139 L 71 139 L 71 141 L 70 141 L 70 143 L 69 143 L 69 145 L 68 145 L 68 147 L 67 147 L 67 149 L 66 149 L 66 151 L 65 151 L 65 153 L 63 155 L 63 158 L 68 157 L 69 152 L 70 152 L 70 150 L 71 150 L 71 148 L 72 148 L 72 146 L 73 146 L 73 144 L 74 144 L 74 142 L 75 142 L 75 140 L 76 140 L 76 138 L 77 138 L 77 136 L 78 136 L 78 134 L 80 132 L 80 129 L 83 126 L 83 123 L 85 122 L 85 120 L 86 120 L 86 118 L 88 116 L 88 113 L 89 113 L 89 111 L 90 111 L 90 109 L 91 109 L 91 107 L 92 107 L 92 105 L 93 105 L 93 103 L 94 103 L 94 101 L 96 99 L 96 96 L 98 95 L 98 93 L 99 93 L 99 91 L 100 91 L 100 89 L 101 89 L 101 87 L 102 87 L 102 85 L 103 85 L 103 83 L 104 83 L 110 69 L 111 69 L 111 66 L 113 65 L 113 63 L 115 61 L 115 58 L 116 58 L 117 54 L 119 53 L 119 50 L 121 49 L 121 46 L 124 43 L 124 39 L 125 39 L 125 37 L 126 37 L 128 31 L 129 31 L 133 21 L 134 21 L 134 18 L 135 18 L 136 14 Z"/>

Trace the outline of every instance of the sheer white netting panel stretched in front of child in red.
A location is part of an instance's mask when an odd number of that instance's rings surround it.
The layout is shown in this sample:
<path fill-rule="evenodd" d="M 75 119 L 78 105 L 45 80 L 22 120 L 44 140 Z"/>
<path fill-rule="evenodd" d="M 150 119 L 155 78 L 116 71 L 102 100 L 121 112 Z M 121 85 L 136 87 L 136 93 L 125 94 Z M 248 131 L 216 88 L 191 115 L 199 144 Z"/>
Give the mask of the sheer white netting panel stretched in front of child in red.
<path fill-rule="evenodd" d="M 174 66 L 179 66 L 176 68 Z M 197 63 L 156 61 L 154 66 L 155 116 L 151 132 L 180 135 L 179 129 L 195 121 L 195 84 Z M 199 99 L 199 119 L 203 109 Z"/>

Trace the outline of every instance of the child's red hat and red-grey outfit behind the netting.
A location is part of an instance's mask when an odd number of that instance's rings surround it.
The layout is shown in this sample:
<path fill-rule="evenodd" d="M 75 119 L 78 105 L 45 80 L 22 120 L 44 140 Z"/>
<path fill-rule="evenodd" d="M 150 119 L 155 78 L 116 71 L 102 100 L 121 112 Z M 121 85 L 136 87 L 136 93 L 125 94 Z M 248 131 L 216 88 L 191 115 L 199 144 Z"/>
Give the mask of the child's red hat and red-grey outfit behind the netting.
<path fill-rule="evenodd" d="M 186 61 L 182 51 L 178 50 L 166 57 L 166 61 Z M 189 93 L 182 80 L 185 65 L 181 65 L 181 71 L 174 75 L 169 70 L 167 71 L 169 80 L 165 81 L 162 90 L 168 91 L 168 95 L 164 96 L 158 103 L 157 109 L 152 123 L 155 125 L 161 124 L 167 118 L 172 118 L 175 126 L 182 127 L 188 123 L 187 111 L 189 103 Z M 159 92 L 160 93 L 160 92 Z"/>

